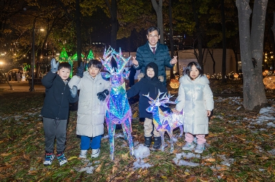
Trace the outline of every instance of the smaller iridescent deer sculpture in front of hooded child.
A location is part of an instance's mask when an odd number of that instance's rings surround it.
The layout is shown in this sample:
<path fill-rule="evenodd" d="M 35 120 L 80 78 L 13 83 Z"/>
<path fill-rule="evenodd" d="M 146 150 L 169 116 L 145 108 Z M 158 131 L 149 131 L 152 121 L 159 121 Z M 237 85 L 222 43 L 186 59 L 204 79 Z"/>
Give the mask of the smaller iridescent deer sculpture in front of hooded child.
<path fill-rule="evenodd" d="M 177 99 L 173 101 L 169 101 L 169 99 L 172 97 L 170 94 L 164 94 L 161 99 L 159 99 L 159 96 L 163 94 L 162 92 L 159 92 L 157 95 L 157 98 L 154 100 L 152 99 L 149 94 L 144 95 L 146 96 L 150 101 L 150 107 L 146 109 L 147 112 L 153 113 L 153 124 L 157 128 L 157 131 L 159 131 L 159 134 L 162 138 L 162 151 L 164 151 L 165 143 L 164 143 L 164 133 L 165 131 L 168 133 L 170 138 L 170 153 L 173 153 L 174 151 L 174 145 L 173 145 L 173 129 L 179 127 L 180 129 L 180 135 L 183 134 L 182 126 L 184 125 L 184 116 L 183 114 L 175 114 L 175 113 L 166 113 L 162 112 L 162 109 L 159 108 L 159 106 L 168 107 L 165 105 L 166 103 L 172 103 L 177 104 Z"/>

